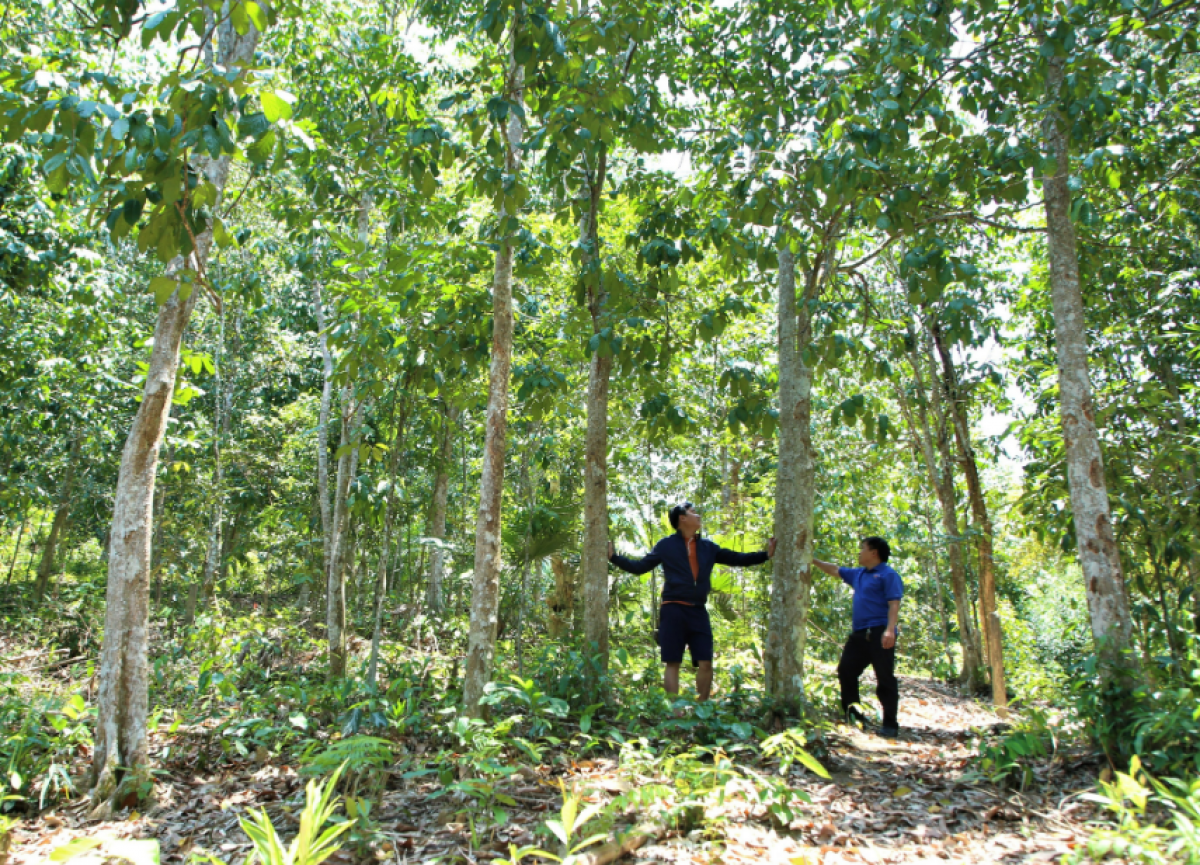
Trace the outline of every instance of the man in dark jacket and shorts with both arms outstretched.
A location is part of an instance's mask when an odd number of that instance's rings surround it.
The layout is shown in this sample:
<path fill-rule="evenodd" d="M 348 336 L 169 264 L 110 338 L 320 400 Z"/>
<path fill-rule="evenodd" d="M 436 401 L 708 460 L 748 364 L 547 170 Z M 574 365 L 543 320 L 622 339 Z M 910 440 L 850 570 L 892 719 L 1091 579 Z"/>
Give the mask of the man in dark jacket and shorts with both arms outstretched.
<path fill-rule="evenodd" d="M 666 665 L 662 687 L 667 693 L 679 693 L 679 666 L 686 648 L 696 667 L 696 693 L 708 699 L 713 690 L 713 625 L 704 603 L 713 588 L 713 565 L 761 565 L 775 554 L 775 539 L 761 553 L 736 553 L 719 547 L 700 536 L 700 513 L 690 501 L 672 507 L 667 519 L 676 533 L 655 543 L 649 555 L 626 559 L 610 543 L 608 561 L 628 573 L 647 573 L 662 565 L 659 612 L 659 648 Z"/>

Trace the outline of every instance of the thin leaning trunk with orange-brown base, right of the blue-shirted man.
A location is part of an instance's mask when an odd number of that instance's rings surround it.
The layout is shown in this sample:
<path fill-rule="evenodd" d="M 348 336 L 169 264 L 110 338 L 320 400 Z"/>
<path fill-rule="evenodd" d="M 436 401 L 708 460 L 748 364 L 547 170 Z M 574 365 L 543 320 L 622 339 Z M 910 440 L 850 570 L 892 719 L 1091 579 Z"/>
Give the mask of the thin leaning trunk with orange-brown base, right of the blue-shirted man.
<path fill-rule="evenodd" d="M 946 391 L 946 407 L 954 422 L 954 438 L 959 443 L 959 455 L 962 458 L 962 474 L 967 481 L 971 511 L 974 515 L 976 525 L 979 527 L 979 612 L 983 615 L 984 638 L 988 641 L 988 663 L 991 667 L 991 702 L 997 709 L 1006 709 L 1008 707 L 1008 690 L 1004 684 L 1004 642 L 1000 626 L 1000 613 L 996 608 L 996 563 L 992 554 L 991 517 L 988 513 L 988 503 L 983 498 L 979 465 L 976 462 L 974 447 L 971 445 L 971 428 L 967 426 L 966 406 L 959 392 L 954 360 L 942 341 L 940 325 L 935 323 L 932 331 L 934 344 L 942 358 L 942 386 Z"/>

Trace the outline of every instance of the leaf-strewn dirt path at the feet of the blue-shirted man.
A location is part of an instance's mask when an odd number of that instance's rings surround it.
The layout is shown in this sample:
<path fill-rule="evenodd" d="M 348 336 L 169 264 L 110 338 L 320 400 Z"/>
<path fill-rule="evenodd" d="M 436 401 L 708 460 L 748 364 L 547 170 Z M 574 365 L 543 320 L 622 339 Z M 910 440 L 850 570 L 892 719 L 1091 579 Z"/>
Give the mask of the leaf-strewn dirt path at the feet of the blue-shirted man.
<path fill-rule="evenodd" d="M 874 687 L 868 678 L 864 693 Z M 1093 810 L 1078 793 L 1093 786 L 1094 759 L 1060 753 L 1034 767 L 1024 793 L 1000 789 L 972 771 L 972 731 L 994 727 L 996 716 L 938 683 L 900 683 L 901 738 L 840 727 L 826 741 L 832 781 L 796 779 L 812 797 L 806 819 L 781 830 L 731 822 L 720 839 L 672 839 L 630 861 L 1050 863 L 1087 836 Z"/>

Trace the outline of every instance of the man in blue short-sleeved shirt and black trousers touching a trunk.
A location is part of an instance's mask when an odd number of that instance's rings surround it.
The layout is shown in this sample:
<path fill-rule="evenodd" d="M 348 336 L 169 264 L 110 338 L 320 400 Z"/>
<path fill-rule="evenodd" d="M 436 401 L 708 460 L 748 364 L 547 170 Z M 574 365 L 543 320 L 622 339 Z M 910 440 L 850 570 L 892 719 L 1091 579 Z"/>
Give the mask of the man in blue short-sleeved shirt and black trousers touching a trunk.
<path fill-rule="evenodd" d="M 904 581 L 888 565 L 890 555 L 892 548 L 886 540 L 864 537 L 858 547 L 858 567 L 838 567 L 816 559 L 812 564 L 830 576 L 841 577 L 854 590 L 851 633 L 838 662 L 841 710 L 851 721 L 865 721 L 854 705 L 859 702 L 858 677 L 870 665 L 877 681 L 875 693 L 883 704 L 880 735 L 894 739 L 900 733 L 896 721 L 900 687 L 895 674 L 895 647 Z"/>

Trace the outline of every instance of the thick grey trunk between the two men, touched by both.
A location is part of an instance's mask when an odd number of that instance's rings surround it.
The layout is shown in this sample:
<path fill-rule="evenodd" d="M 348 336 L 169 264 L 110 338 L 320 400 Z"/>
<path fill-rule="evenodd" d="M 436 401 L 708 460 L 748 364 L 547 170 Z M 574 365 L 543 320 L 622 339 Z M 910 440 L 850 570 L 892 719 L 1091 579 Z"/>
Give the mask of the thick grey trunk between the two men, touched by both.
<path fill-rule="evenodd" d="M 779 248 L 779 468 L 775 480 L 775 548 L 766 636 L 766 685 L 781 709 L 804 702 L 804 648 L 812 587 L 812 371 L 804 362 L 823 257 L 805 275 L 797 308 L 796 256 Z"/>

